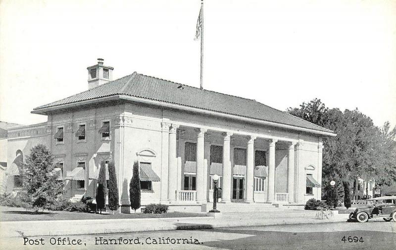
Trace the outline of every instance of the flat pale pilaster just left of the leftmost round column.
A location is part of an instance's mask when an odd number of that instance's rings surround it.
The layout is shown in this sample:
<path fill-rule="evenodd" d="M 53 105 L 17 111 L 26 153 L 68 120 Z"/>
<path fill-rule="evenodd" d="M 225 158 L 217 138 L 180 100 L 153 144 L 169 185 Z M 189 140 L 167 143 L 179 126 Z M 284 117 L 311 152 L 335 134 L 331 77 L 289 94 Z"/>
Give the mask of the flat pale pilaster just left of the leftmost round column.
<path fill-rule="evenodd" d="M 160 203 L 168 202 L 169 125 L 161 123 L 161 194 Z"/>

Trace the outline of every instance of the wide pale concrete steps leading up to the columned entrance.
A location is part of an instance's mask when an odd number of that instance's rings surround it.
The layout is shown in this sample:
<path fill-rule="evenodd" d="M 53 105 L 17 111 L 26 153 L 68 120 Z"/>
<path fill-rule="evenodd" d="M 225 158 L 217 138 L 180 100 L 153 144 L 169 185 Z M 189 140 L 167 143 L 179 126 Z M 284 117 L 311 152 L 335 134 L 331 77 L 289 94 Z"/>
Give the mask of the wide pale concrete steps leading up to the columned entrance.
<path fill-rule="evenodd" d="M 213 203 L 208 203 L 206 206 L 206 211 L 209 211 L 213 208 Z M 282 206 L 276 208 L 274 205 L 270 203 L 217 203 L 217 210 L 221 212 L 262 212 L 262 211 L 279 211 L 283 210 Z"/>

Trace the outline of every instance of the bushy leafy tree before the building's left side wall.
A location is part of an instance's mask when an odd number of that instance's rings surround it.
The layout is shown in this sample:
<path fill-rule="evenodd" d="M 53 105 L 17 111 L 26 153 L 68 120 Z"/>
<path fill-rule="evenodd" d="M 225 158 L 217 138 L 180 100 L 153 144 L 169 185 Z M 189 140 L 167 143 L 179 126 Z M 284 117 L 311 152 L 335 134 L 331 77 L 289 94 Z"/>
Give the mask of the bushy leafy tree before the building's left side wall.
<path fill-rule="evenodd" d="M 40 208 L 49 208 L 63 193 L 63 181 L 58 181 L 54 172 L 56 165 L 47 147 L 39 144 L 30 150 L 23 164 L 22 200 L 28 208 L 38 212 Z"/>

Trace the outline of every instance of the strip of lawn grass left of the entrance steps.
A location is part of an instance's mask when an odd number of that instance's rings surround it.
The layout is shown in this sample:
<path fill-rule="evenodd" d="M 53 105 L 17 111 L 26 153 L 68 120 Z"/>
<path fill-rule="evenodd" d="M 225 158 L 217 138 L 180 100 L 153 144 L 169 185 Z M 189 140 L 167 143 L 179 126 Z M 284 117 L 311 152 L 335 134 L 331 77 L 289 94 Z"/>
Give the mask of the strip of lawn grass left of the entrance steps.
<path fill-rule="evenodd" d="M 175 218 L 175 217 L 203 217 L 203 213 L 168 212 L 162 214 L 152 213 L 84 213 L 68 211 L 44 210 L 33 213 L 23 208 L 0 206 L 0 221 L 33 221 L 33 220 L 81 220 L 81 219 L 134 219 L 134 218 Z"/>

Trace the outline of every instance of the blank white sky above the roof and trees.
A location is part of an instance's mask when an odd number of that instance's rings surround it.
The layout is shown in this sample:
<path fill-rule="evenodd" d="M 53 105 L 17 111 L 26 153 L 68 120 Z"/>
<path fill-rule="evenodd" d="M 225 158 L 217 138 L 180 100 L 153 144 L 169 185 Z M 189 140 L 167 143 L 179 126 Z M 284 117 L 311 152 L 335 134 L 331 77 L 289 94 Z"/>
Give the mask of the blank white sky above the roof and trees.
<path fill-rule="evenodd" d="M 88 89 L 97 58 L 199 87 L 199 0 L 0 0 L 0 121 Z M 285 111 L 319 98 L 396 125 L 396 0 L 205 0 L 203 88 Z"/>

